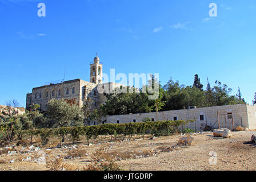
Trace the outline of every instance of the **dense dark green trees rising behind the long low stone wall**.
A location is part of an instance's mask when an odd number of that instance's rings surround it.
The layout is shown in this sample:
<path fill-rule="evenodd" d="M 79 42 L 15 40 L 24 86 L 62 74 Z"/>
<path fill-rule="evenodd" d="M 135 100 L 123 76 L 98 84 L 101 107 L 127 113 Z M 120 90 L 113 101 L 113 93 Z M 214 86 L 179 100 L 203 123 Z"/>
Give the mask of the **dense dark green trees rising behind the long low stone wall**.
<path fill-rule="evenodd" d="M 154 77 L 152 79 L 154 80 Z M 149 95 L 142 93 L 142 89 L 138 94 L 111 93 L 107 94 L 106 104 L 102 105 L 101 109 L 105 114 L 117 115 L 187 109 L 189 106 L 208 107 L 245 103 L 240 88 L 236 96 L 230 95 L 231 91 L 231 88 L 219 81 L 215 81 L 213 87 L 208 82 L 206 89 L 203 90 L 198 75 L 195 75 L 194 84 L 191 86 L 180 85 L 179 81 L 170 78 L 167 84 L 159 84 L 157 100 L 149 100 Z M 256 97 L 254 102 L 256 103 Z"/>

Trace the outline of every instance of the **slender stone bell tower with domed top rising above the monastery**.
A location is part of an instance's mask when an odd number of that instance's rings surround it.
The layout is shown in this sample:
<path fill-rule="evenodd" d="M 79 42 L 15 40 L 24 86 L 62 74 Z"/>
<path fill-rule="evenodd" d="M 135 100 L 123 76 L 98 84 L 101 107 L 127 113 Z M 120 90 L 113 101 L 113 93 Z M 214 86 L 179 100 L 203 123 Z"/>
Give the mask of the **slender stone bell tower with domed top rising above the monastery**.
<path fill-rule="evenodd" d="M 99 64 L 99 57 L 96 54 L 93 64 L 90 64 L 90 82 L 94 84 L 102 84 L 102 64 Z"/>

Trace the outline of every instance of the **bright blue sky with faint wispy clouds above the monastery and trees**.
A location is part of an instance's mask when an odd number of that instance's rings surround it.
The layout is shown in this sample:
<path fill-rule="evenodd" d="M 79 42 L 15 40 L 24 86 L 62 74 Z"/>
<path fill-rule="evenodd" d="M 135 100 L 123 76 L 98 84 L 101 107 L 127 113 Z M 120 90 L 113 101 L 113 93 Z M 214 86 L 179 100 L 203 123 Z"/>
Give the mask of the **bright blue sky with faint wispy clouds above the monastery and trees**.
<path fill-rule="evenodd" d="M 45 3 L 46 17 L 38 17 Z M 209 4 L 217 4 L 217 17 Z M 217 0 L 0 0 L 0 104 L 45 82 L 81 78 L 97 52 L 103 72 L 159 73 L 204 88 L 207 77 L 238 86 L 251 104 L 255 85 L 256 2 Z"/>

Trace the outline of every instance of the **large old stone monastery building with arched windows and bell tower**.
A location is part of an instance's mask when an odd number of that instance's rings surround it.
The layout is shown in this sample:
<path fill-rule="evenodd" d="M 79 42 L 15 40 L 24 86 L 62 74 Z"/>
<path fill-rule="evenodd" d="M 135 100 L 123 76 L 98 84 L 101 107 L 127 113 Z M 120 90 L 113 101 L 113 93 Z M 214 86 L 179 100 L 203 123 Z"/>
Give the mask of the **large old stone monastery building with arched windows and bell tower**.
<path fill-rule="evenodd" d="M 96 109 L 106 102 L 105 93 L 111 93 L 116 87 L 120 86 L 121 84 L 115 82 L 102 84 L 102 64 L 99 64 L 99 57 L 95 57 L 94 63 L 90 64 L 90 82 L 75 79 L 33 88 L 32 93 L 27 94 L 26 109 L 29 109 L 32 104 L 39 104 L 40 109 L 45 111 L 46 103 L 53 98 L 75 99 L 79 107 L 82 107 L 87 98 L 90 98 L 93 100 L 91 109 Z M 105 90 L 105 93 L 103 91 L 99 93 L 99 87 Z"/>

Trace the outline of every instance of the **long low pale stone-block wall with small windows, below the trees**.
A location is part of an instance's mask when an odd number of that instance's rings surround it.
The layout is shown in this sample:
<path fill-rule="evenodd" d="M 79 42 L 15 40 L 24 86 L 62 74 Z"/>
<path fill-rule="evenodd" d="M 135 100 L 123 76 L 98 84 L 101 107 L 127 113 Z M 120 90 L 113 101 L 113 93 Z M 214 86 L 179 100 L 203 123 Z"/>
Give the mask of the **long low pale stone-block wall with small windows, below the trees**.
<path fill-rule="evenodd" d="M 250 125 L 247 117 L 247 108 L 250 109 Z M 195 123 L 189 123 L 187 126 L 191 129 L 197 129 L 197 131 L 202 131 L 202 124 L 211 125 L 215 128 L 218 128 L 218 116 L 217 111 L 227 111 L 233 113 L 234 118 L 234 127 L 242 125 L 243 127 L 248 127 L 249 129 L 254 129 L 256 126 L 255 121 L 255 106 L 247 106 L 246 104 L 238 105 L 226 105 L 226 106 L 214 106 L 214 107 L 201 107 L 196 109 L 182 109 L 182 110 L 171 110 L 171 111 L 160 111 L 158 112 L 158 121 L 163 120 L 173 120 L 174 117 L 182 120 L 195 119 Z M 200 115 L 203 115 L 203 118 L 200 118 Z M 96 121 L 97 124 L 102 124 L 102 121 L 106 120 L 106 123 L 129 123 L 129 122 L 142 122 L 143 118 L 150 118 L 156 121 L 155 113 L 141 113 L 141 114 L 126 114 L 126 115 L 107 115 L 105 118 L 102 118 L 101 121 Z M 233 128 L 231 119 L 227 118 L 226 115 L 226 125 L 225 125 L 225 116 L 221 115 L 220 117 L 221 126 Z M 202 120 L 201 120 L 202 119 Z M 229 122 L 229 124 L 227 124 Z M 91 122 L 91 125 L 94 124 L 94 121 Z"/>

